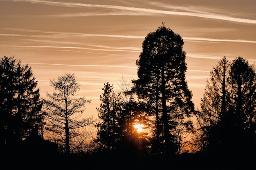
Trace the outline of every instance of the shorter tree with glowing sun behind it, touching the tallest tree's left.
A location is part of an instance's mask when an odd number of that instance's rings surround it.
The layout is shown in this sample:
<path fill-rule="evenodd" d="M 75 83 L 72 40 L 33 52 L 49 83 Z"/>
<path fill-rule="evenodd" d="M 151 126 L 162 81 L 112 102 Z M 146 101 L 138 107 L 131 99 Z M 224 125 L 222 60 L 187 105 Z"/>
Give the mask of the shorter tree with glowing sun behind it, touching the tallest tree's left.
<path fill-rule="evenodd" d="M 121 77 L 119 79 L 118 86 L 120 88 L 121 96 L 121 113 L 118 120 L 119 133 L 121 135 L 121 142 L 119 142 L 119 148 L 136 154 L 143 148 L 146 148 L 148 144 L 148 136 L 146 129 L 149 128 L 149 120 L 145 114 L 145 110 L 135 100 L 134 91 L 132 88 L 132 81 L 127 77 Z M 137 132 L 135 126 L 143 126 L 141 132 Z"/>

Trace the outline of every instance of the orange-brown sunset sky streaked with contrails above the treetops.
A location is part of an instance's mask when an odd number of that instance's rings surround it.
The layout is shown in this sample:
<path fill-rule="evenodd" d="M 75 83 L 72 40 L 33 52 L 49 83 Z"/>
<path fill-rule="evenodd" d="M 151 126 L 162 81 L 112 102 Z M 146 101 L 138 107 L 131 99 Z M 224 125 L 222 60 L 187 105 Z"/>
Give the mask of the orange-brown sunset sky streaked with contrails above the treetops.
<path fill-rule="evenodd" d="M 184 40 L 195 108 L 223 56 L 256 64 L 256 0 L 0 0 L 0 57 L 28 64 L 41 98 L 74 73 L 97 118 L 104 84 L 137 79 L 142 42 L 163 22 Z"/>

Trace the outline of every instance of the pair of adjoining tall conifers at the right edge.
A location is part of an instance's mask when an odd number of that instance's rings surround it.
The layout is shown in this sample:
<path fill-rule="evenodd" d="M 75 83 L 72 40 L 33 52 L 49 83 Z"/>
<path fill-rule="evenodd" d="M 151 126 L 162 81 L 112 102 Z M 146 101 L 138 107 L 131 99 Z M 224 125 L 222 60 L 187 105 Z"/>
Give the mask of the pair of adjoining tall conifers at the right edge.
<path fill-rule="evenodd" d="M 210 75 L 198 114 L 205 150 L 230 154 L 255 149 L 255 70 L 242 57 L 232 63 L 223 57 Z"/>

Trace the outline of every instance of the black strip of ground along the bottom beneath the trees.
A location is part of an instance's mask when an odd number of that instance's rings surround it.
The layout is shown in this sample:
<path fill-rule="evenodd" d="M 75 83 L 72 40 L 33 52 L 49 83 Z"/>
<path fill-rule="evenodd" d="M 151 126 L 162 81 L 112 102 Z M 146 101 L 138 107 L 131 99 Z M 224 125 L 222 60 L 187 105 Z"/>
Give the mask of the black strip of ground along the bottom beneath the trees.
<path fill-rule="evenodd" d="M 127 154 L 101 155 L 2 155 L 1 170 L 251 170 L 255 155 L 184 154 L 142 156 Z"/>

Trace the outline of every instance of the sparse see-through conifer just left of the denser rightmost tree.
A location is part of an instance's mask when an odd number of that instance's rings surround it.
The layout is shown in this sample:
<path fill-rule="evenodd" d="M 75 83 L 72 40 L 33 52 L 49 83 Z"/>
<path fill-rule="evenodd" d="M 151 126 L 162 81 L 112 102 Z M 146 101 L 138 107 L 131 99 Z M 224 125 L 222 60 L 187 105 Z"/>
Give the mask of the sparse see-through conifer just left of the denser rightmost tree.
<path fill-rule="evenodd" d="M 224 56 L 218 65 L 210 71 L 210 79 L 207 79 L 204 95 L 201 98 L 202 111 L 198 112 L 198 120 L 201 125 L 202 138 L 208 145 L 210 145 L 209 143 L 215 145 L 220 141 L 217 135 L 220 132 L 213 130 L 213 127 L 216 127 L 218 122 L 227 116 L 231 89 L 230 84 L 228 84 L 229 69 L 230 62 Z"/>

